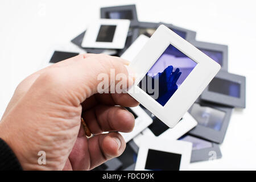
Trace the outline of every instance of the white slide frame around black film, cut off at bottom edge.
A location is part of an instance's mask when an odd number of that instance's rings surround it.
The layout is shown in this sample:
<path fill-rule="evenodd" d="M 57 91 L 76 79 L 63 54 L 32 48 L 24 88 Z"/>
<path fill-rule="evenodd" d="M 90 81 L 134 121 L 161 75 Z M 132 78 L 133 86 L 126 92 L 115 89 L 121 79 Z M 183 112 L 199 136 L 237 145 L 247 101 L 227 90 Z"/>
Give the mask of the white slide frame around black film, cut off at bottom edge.
<path fill-rule="evenodd" d="M 179 171 L 188 170 L 192 151 L 191 142 L 144 137 L 142 145 L 139 147 L 135 171 L 148 171 L 145 166 L 149 149 L 180 154 Z"/>

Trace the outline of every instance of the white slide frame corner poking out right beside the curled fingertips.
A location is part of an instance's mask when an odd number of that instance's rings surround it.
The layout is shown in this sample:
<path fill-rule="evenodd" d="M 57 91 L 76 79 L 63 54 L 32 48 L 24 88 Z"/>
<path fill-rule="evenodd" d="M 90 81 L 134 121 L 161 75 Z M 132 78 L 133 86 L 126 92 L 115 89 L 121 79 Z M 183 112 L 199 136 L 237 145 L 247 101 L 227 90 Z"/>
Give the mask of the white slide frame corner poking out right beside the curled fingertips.
<path fill-rule="evenodd" d="M 126 143 L 136 137 L 139 133 L 141 133 L 141 131 L 146 129 L 146 127 L 148 127 L 153 122 L 152 118 L 140 106 L 130 107 L 130 109 L 138 117 L 135 119 L 133 131 L 131 131 L 130 133 L 119 132 L 122 135 L 123 139 L 125 139 Z"/>

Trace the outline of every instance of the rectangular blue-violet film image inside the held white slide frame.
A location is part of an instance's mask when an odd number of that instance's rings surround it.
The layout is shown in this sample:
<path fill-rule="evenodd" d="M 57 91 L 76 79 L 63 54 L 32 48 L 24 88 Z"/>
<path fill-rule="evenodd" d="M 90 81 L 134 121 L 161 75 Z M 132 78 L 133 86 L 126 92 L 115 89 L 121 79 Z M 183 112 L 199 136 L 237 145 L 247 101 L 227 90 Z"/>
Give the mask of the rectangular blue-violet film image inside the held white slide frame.
<path fill-rule="evenodd" d="M 196 64 L 195 61 L 170 44 L 138 86 L 164 106 L 196 67 Z"/>

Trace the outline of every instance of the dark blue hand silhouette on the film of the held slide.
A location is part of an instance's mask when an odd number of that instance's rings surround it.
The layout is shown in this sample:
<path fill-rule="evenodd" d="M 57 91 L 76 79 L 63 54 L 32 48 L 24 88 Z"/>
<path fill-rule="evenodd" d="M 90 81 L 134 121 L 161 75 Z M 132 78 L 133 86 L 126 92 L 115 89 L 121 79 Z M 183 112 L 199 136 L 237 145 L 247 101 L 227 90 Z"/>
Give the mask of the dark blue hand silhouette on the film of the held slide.
<path fill-rule="evenodd" d="M 168 100 L 170 100 L 170 98 L 178 88 L 176 82 L 179 79 L 181 72 L 179 68 L 176 68 L 174 72 L 173 69 L 174 67 L 170 65 L 166 69 L 164 69 L 162 73 L 157 73 L 154 77 L 151 78 L 153 88 L 155 79 L 158 79 L 156 81 L 159 81 L 159 95 L 156 101 L 162 106 L 164 106 L 168 102 Z M 147 74 L 147 77 L 150 76 Z M 147 92 L 147 94 L 149 93 Z"/>

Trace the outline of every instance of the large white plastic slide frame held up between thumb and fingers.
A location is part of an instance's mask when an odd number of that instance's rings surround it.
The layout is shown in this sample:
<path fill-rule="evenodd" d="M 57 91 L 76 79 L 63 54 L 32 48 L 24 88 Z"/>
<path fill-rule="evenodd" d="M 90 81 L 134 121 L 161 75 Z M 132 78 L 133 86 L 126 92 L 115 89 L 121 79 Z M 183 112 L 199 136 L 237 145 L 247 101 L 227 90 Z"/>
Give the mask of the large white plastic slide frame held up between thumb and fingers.
<path fill-rule="evenodd" d="M 190 57 L 197 65 L 166 105 L 162 106 L 137 85 L 170 44 Z M 220 65 L 214 60 L 163 25 L 158 27 L 129 67 L 138 73 L 138 77 L 127 93 L 171 128 L 180 121 L 220 70 Z"/>

